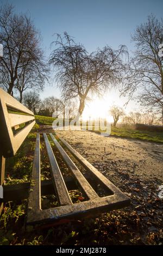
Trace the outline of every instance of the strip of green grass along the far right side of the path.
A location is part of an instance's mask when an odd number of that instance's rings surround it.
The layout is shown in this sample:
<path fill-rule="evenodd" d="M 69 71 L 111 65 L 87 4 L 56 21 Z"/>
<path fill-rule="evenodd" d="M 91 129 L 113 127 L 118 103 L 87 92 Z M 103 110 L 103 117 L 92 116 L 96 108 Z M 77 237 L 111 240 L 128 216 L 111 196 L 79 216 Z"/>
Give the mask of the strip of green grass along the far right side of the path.
<path fill-rule="evenodd" d="M 111 135 L 124 138 L 141 139 L 142 141 L 163 143 L 163 132 L 137 131 L 134 129 L 111 127 Z"/>

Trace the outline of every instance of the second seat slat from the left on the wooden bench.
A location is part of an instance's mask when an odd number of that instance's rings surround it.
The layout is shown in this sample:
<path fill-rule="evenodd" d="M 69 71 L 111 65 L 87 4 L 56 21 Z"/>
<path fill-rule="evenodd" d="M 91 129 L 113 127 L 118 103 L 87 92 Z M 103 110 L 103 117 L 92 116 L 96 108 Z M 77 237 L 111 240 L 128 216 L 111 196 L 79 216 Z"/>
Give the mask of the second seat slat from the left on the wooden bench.
<path fill-rule="evenodd" d="M 55 192 L 58 198 L 58 201 L 60 205 L 67 205 L 72 204 L 71 198 L 68 194 L 65 181 L 62 178 L 57 160 L 55 159 L 55 156 L 53 154 L 53 150 L 51 148 L 51 145 L 48 141 L 47 135 L 43 133 L 43 137 L 45 139 L 46 149 L 49 157 L 49 162 L 51 164 L 52 168 L 52 177 L 55 185 Z"/>

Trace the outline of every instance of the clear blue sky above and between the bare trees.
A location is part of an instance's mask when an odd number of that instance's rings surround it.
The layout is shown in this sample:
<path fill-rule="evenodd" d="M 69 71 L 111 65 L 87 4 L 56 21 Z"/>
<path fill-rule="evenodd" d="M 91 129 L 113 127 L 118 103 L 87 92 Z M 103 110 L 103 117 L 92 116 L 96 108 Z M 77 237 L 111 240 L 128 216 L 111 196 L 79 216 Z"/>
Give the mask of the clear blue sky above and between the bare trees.
<path fill-rule="evenodd" d="M 87 51 L 95 51 L 106 44 L 116 49 L 124 44 L 134 50 L 130 35 L 137 25 L 153 13 L 163 16 L 162 0 L 8 0 L 17 13 L 28 13 L 42 35 L 42 47 L 46 57 L 51 52 L 54 33 L 66 31 L 74 40 L 82 43 Z M 59 89 L 47 87 L 41 97 L 60 96 Z M 108 93 L 108 99 L 118 100 L 118 93 Z M 106 95 L 106 96 L 107 96 Z M 127 100 L 122 99 L 120 105 Z M 134 103 L 128 105 L 134 107 Z"/>

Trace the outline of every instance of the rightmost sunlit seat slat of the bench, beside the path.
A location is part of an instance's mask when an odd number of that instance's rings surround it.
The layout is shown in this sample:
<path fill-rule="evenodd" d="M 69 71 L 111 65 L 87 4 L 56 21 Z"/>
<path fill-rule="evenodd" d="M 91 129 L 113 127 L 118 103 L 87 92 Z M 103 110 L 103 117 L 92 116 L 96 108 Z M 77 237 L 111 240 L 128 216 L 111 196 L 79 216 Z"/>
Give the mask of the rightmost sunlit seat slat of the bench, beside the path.
<path fill-rule="evenodd" d="M 99 172 L 91 163 L 89 163 L 82 155 L 80 155 L 75 149 L 71 147 L 63 138 L 60 138 L 57 134 L 57 137 L 60 141 L 66 146 L 66 148 L 72 153 L 74 157 L 85 167 L 85 169 L 89 170 L 96 179 L 99 179 L 105 186 L 107 186 L 114 193 L 122 193 L 110 180 L 108 180 L 101 172 Z"/>

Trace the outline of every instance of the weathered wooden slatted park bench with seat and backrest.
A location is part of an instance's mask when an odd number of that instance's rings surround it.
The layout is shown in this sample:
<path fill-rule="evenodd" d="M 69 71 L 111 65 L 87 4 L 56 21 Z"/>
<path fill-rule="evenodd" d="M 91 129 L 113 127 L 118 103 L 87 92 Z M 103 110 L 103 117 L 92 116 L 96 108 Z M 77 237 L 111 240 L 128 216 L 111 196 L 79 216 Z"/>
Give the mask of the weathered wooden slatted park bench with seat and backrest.
<path fill-rule="evenodd" d="M 16 113 L 15 113 L 16 111 Z M 41 181 L 40 164 L 40 133 L 36 135 L 36 145 L 33 161 L 31 182 L 16 185 L 4 185 L 5 158 L 14 156 L 24 139 L 35 124 L 34 114 L 0 89 L 0 170 L 1 185 L 4 188 L 4 202 L 8 200 L 28 199 L 27 224 L 60 220 L 61 218 L 83 218 L 86 215 L 95 216 L 101 212 L 122 208 L 130 204 L 130 199 L 114 184 L 92 166 L 82 155 L 74 150 L 64 139 L 55 133 L 43 133 L 52 180 Z M 21 129 L 18 129 L 20 127 Z M 17 130 L 15 130 L 15 128 Z M 64 177 L 59 168 L 56 156 L 49 142 L 53 141 L 55 148 L 65 162 L 71 177 Z M 70 154 L 69 154 L 70 153 Z M 82 173 L 74 159 L 85 169 Z M 72 203 L 68 189 L 76 184 L 85 195 L 84 202 Z M 106 191 L 105 196 L 99 195 L 97 187 Z M 54 208 L 41 209 L 41 195 L 55 193 L 58 205 Z M 1 211 L 3 202 L 1 202 Z"/>

